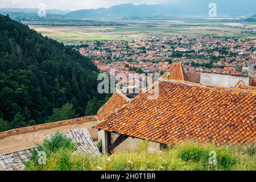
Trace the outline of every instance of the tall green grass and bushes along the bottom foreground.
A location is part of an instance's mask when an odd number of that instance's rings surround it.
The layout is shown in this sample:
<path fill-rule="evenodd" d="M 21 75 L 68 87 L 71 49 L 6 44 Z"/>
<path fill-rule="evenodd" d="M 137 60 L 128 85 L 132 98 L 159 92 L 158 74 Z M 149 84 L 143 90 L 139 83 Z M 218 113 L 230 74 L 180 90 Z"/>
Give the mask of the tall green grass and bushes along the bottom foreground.
<path fill-rule="evenodd" d="M 61 142 L 64 140 L 64 142 Z M 57 146 L 57 147 L 53 147 Z M 61 147 L 62 146 L 62 147 Z M 46 152 L 46 165 L 39 165 L 34 151 L 26 170 L 32 171 L 208 171 L 256 170 L 254 146 L 215 147 L 212 144 L 183 142 L 164 151 L 150 152 L 148 142 L 139 143 L 138 150 L 123 154 L 101 155 L 92 158 L 76 151 L 61 135 L 45 141 L 40 150 Z M 216 154 L 217 164 L 209 164 Z M 210 160 L 212 161 L 212 160 Z"/>

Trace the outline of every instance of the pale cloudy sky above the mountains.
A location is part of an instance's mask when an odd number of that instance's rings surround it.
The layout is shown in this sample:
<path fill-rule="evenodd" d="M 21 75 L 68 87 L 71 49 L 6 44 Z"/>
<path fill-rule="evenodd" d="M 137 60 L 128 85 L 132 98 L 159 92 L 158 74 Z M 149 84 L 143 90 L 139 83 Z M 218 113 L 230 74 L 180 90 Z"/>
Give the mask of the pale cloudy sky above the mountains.
<path fill-rule="evenodd" d="M 178 1 L 180 0 L 0 0 L 0 7 L 38 8 L 39 3 L 45 3 L 47 9 L 81 10 L 111 7 L 122 3 L 152 5 Z"/>

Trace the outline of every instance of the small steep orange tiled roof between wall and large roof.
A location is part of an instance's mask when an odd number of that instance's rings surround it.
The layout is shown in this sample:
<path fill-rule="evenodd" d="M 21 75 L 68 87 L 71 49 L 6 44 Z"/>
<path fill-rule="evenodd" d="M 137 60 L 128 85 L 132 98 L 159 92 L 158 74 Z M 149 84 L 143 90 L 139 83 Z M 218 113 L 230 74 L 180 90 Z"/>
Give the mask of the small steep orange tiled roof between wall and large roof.
<path fill-rule="evenodd" d="M 97 119 L 101 121 L 102 119 L 108 117 L 110 114 L 118 110 L 122 105 L 127 104 L 131 100 L 126 97 L 122 92 L 116 90 L 113 96 L 109 99 L 106 104 L 104 104 L 97 113 Z"/>

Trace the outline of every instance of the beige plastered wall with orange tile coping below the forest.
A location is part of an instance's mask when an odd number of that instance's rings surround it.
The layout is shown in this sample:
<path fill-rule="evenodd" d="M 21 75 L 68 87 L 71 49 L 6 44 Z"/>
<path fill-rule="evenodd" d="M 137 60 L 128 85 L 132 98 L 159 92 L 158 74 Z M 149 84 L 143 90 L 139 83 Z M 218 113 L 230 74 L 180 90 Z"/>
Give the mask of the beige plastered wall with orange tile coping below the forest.
<path fill-rule="evenodd" d="M 47 135 L 71 129 L 81 129 L 85 127 L 91 137 L 97 139 L 98 130 L 92 129 L 96 123 L 97 121 L 94 117 L 84 117 L 10 130 L 0 134 L 0 154 L 35 147 L 36 144 L 41 144 Z"/>

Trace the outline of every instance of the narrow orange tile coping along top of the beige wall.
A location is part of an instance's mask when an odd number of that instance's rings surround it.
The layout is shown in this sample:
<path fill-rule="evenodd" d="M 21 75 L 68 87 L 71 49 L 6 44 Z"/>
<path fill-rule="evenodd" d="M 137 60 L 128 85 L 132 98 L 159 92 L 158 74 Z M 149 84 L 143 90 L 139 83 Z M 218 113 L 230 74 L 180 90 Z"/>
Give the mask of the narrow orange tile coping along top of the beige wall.
<path fill-rule="evenodd" d="M 19 129 L 4 131 L 4 132 L 0 133 L 0 138 L 5 138 L 5 137 L 9 137 L 11 135 L 18 135 L 18 134 L 22 134 L 22 133 L 28 133 L 28 132 L 32 132 L 32 131 L 51 129 L 53 127 L 73 125 L 73 124 L 82 123 L 82 122 L 89 122 L 89 121 L 96 121 L 96 118 L 94 116 L 88 116 L 88 117 L 82 117 L 82 118 L 76 118 L 76 119 L 69 119 L 69 120 L 65 120 L 65 121 L 46 123 L 46 124 L 42 124 L 42 125 L 21 127 Z"/>

